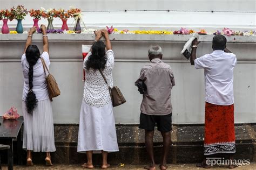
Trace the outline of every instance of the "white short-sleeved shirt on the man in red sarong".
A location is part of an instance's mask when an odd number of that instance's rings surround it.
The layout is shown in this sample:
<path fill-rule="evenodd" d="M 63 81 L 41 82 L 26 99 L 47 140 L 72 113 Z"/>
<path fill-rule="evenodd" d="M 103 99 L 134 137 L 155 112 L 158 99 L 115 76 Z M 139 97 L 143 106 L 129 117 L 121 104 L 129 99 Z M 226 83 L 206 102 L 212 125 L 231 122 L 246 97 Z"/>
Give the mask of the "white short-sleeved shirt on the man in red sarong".
<path fill-rule="evenodd" d="M 205 101 L 218 105 L 234 103 L 233 69 L 237 58 L 233 53 L 215 50 L 194 60 L 196 69 L 205 70 Z"/>

